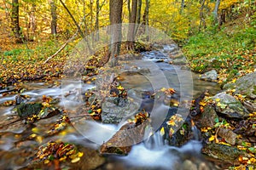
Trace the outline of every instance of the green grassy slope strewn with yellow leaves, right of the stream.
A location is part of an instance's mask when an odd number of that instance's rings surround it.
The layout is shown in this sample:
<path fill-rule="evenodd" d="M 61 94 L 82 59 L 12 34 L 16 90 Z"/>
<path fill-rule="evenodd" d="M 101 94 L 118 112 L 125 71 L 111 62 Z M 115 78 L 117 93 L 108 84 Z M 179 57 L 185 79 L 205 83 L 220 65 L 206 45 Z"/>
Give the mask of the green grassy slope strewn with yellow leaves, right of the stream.
<path fill-rule="evenodd" d="M 203 73 L 215 69 L 218 82 L 223 83 L 255 71 L 255 44 L 255 21 L 240 18 L 189 37 L 183 53 L 189 59 L 191 70 Z"/>

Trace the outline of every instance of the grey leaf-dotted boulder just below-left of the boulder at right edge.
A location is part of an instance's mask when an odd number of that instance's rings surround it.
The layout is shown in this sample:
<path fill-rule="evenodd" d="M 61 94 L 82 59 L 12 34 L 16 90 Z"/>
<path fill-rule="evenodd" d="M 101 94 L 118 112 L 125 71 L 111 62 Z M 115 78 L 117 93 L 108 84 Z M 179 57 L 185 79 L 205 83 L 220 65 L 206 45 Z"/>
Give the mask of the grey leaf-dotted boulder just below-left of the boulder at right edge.
<path fill-rule="evenodd" d="M 241 102 L 230 94 L 222 92 L 213 96 L 212 99 L 217 102 L 216 111 L 224 116 L 238 119 L 244 119 L 249 116 L 249 112 L 241 105 Z"/>

